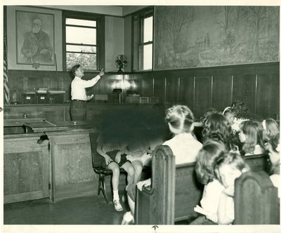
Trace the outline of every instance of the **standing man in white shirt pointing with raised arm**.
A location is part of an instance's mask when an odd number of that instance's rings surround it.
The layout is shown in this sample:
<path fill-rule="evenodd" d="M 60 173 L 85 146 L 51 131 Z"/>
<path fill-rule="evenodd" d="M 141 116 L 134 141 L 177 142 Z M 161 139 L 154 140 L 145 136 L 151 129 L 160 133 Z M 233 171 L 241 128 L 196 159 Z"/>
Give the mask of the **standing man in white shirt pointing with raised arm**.
<path fill-rule="evenodd" d="M 86 95 L 86 89 L 94 86 L 100 77 L 105 74 L 103 69 L 100 73 L 90 80 L 83 80 L 84 70 L 80 65 L 74 65 L 71 68 L 74 79 L 71 83 L 71 105 L 70 116 L 72 121 L 86 121 L 86 101 L 91 100 L 93 95 Z"/>

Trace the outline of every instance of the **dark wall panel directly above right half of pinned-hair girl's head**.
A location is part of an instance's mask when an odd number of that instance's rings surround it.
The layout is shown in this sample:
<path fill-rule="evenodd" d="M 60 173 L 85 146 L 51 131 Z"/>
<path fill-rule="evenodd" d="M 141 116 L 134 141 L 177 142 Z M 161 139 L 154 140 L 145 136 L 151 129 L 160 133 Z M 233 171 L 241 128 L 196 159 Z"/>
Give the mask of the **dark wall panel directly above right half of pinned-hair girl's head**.
<path fill-rule="evenodd" d="M 179 88 L 179 102 L 183 105 L 187 105 L 192 112 L 194 111 L 194 77 L 193 76 L 181 76 L 181 85 Z"/>

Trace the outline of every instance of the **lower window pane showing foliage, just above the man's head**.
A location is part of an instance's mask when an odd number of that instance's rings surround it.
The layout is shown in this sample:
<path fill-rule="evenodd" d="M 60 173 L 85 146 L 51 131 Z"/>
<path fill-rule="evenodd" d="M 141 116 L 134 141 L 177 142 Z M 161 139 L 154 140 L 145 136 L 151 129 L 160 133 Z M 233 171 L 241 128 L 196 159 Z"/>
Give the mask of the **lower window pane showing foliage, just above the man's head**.
<path fill-rule="evenodd" d="M 76 64 L 81 64 L 84 69 L 96 70 L 96 54 L 66 53 L 67 70 Z"/>

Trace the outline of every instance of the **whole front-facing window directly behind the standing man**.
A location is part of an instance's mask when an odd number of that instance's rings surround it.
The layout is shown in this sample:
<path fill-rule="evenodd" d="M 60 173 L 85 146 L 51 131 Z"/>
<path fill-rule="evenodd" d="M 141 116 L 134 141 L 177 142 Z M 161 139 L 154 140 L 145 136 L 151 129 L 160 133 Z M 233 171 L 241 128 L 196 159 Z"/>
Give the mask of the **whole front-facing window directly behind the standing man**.
<path fill-rule="evenodd" d="M 77 14 L 77 13 L 76 13 Z M 77 63 L 85 70 L 100 69 L 100 62 L 104 51 L 101 37 L 100 17 L 95 15 L 74 15 L 64 13 L 64 67 L 70 70 Z"/>

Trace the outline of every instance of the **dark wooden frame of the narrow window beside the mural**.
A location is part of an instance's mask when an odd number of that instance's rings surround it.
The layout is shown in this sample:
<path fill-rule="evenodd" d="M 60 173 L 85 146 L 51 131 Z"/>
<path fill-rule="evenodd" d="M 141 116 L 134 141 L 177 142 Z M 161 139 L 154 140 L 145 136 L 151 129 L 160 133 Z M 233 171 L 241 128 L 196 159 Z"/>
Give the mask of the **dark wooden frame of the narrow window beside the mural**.
<path fill-rule="evenodd" d="M 152 17 L 152 41 L 148 41 L 148 42 L 144 42 L 143 41 L 143 34 L 144 34 L 144 20 L 145 18 L 150 18 Z M 134 35 L 135 32 L 135 22 L 136 20 L 137 22 L 137 30 L 138 30 L 138 34 L 137 36 Z M 133 72 L 146 72 L 146 71 L 152 71 L 154 69 L 154 22 L 155 22 L 155 15 L 154 15 L 154 7 L 148 7 L 145 8 L 141 11 L 138 11 L 136 13 L 132 14 L 132 60 L 133 62 L 131 70 Z M 137 37 L 137 39 L 136 39 Z M 137 43 L 138 44 L 138 51 L 136 51 L 136 49 L 134 48 L 134 44 Z M 152 44 L 152 65 L 151 65 L 151 69 L 143 69 L 143 48 L 146 45 Z M 137 58 L 136 58 L 136 53 L 137 53 Z M 135 59 L 137 59 L 137 62 L 134 61 Z M 137 63 L 137 67 L 135 67 L 135 63 Z"/>

